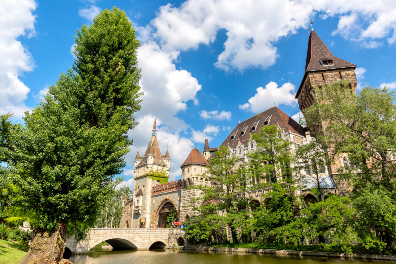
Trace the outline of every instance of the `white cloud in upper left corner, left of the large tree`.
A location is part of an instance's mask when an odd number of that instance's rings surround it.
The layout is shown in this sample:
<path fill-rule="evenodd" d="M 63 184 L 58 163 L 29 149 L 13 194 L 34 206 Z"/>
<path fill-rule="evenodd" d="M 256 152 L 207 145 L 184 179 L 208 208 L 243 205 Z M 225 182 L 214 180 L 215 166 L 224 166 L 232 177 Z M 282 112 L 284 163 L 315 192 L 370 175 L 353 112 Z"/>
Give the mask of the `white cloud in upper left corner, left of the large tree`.
<path fill-rule="evenodd" d="M 11 112 L 20 118 L 29 110 L 24 101 L 30 89 L 19 78 L 23 72 L 33 70 L 34 61 L 17 39 L 34 36 L 36 7 L 32 0 L 0 2 L 0 114 Z"/>

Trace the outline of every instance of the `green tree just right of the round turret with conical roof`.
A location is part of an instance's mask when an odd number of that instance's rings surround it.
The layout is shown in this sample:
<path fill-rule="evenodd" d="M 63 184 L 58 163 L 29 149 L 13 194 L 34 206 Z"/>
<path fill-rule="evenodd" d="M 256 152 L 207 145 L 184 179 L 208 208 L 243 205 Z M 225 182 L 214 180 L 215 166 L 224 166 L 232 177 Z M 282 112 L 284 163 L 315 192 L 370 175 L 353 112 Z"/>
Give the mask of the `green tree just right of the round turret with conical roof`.
<path fill-rule="evenodd" d="M 210 160 L 211 166 L 201 175 L 209 185 L 196 185 L 192 188 L 202 190 L 200 201 L 204 206 L 195 208 L 199 212 L 200 222 L 208 222 L 212 234 L 227 228 L 230 230 L 232 239 L 237 239 L 238 222 L 240 218 L 246 219 L 248 199 L 245 198 L 246 168 L 241 165 L 235 167 L 239 157 L 230 154 L 229 148 L 220 146 Z M 190 220 L 189 230 L 195 226 L 194 218 Z M 202 224 L 202 223 L 201 223 Z M 221 231 L 222 232 L 222 231 Z M 196 237 L 192 235 L 192 237 Z M 210 237 L 208 237 L 209 239 Z"/>

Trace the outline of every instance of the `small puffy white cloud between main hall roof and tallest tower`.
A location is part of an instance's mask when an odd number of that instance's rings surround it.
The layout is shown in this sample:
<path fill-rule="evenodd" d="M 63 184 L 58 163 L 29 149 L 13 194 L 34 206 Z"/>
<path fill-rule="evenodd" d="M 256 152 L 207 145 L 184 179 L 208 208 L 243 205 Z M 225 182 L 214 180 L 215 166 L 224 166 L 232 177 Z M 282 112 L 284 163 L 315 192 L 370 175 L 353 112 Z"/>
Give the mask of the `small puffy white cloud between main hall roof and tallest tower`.
<path fill-rule="evenodd" d="M 278 87 L 276 82 L 269 82 L 265 88 L 258 87 L 257 93 L 248 100 L 249 103 L 240 104 L 239 109 L 259 113 L 274 106 L 274 103 L 277 106 L 295 106 L 297 99 L 294 98 L 294 90 L 295 86 L 289 82 L 281 87 Z"/>

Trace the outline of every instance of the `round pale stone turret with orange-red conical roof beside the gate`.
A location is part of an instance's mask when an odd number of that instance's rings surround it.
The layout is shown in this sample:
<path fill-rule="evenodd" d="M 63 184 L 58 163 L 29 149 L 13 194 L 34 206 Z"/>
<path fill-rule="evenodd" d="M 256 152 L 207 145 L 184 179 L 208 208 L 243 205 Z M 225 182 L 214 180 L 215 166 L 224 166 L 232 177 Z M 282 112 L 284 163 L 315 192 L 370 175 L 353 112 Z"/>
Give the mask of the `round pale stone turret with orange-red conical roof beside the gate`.
<path fill-rule="evenodd" d="M 200 176 L 207 170 L 206 166 L 210 166 L 209 162 L 197 148 L 193 148 L 191 150 L 187 159 L 180 166 L 182 171 L 181 181 L 183 188 L 181 189 L 179 220 L 182 222 L 185 221 L 187 217 L 194 215 L 193 207 L 198 206 L 199 202 L 196 201 L 197 204 L 193 204 L 193 201 L 191 200 L 199 198 L 201 195 L 201 190 L 189 187 L 198 184 L 211 184 L 210 182 L 206 182 L 206 180 Z"/>

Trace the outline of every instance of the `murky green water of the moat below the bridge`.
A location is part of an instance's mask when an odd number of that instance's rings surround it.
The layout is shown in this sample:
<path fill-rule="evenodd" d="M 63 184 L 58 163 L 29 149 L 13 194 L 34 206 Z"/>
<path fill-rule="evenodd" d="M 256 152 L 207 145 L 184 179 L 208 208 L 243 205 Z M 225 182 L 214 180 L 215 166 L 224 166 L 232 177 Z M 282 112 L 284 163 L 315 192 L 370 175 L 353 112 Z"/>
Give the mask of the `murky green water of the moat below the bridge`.
<path fill-rule="evenodd" d="M 200 251 L 179 251 L 153 249 L 137 251 L 89 252 L 74 255 L 69 259 L 74 264 L 360 264 L 363 262 L 390 261 L 342 260 L 303 256 L 252 255 L 245 253 L 208 253 Z M 393 262 L 394 263 L 394 262 Z"/>

